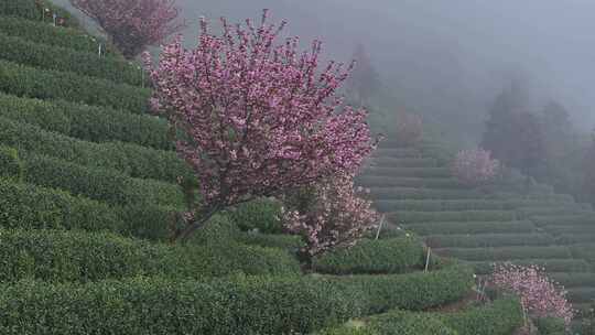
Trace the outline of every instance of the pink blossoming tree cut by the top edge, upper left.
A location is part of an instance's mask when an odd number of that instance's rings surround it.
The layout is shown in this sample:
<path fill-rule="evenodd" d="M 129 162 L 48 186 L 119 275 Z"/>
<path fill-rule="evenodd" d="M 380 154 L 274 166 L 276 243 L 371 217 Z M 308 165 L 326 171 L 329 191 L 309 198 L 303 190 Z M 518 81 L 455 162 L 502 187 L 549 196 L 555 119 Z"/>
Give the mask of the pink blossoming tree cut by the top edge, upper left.
<path fill-rule="evenodd" d="M 174 0 L 71 0 L 93 18 L 128 58 L 183 26 Z"/>

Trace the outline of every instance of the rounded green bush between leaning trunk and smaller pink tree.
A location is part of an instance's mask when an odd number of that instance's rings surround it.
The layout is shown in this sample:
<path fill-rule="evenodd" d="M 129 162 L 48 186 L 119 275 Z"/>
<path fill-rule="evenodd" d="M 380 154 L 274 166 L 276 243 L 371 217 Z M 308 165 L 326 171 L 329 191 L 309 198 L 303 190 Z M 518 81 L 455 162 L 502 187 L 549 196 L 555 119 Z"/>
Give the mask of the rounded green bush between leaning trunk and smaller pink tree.
<path fill-rule="evenodd" d="M 263 234 L 283 233 L 281 204 L 274 199 L 260 198 L 238 205 L 226 213 L 242 230 L 258 230 Z"/>

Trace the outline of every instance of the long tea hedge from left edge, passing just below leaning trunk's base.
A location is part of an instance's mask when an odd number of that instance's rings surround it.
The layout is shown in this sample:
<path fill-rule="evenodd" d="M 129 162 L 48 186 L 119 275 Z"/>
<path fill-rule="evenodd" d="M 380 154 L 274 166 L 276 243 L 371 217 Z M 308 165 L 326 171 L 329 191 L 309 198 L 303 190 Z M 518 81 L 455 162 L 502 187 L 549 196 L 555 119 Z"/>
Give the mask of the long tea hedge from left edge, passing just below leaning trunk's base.
<path fill-rule="evenodd" d="M 134 275 L 196 278 L 291 274 L 300 264 L 288 252 L 228 242 L 223 247 L 149 244 L 112 234 L 0 230 L 0 281 L 97 281 Z"/>

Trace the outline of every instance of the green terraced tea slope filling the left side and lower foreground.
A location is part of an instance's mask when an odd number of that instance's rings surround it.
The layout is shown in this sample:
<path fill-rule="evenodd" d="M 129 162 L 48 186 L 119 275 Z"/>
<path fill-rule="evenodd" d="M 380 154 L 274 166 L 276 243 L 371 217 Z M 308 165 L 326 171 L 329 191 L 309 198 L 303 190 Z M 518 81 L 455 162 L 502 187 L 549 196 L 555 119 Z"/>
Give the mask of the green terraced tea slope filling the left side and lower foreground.
<path fill-rule="evenodd" d="M 177 182 L 193 176 L 167 125 L 147 114 L 140 69 L 113 50 L 97 55 L 104 42 L 74 22 L 43 22 L 33 0 L 0 0 L 0 15 L 1 334 L 520 326 L 515 298 L 467 300 L 472 269 L 432 258 L 424 271 L 424 246 L 408 235 L 365 239 L 304 272 L 300 239 L 280 234 L 274 204 L 257 202 L 215 217 L 187 245 L 166 242 L 186 205 Z M 457 313 L 440 312 L 454 303 Z"/>

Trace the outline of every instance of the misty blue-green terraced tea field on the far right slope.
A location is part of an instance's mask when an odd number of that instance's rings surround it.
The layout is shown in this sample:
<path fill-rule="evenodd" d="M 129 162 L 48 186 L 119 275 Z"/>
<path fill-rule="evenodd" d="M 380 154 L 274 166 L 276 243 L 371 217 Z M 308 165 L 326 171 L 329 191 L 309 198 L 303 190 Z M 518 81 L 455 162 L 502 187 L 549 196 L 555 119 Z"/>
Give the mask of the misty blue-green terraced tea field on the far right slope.
<path fill-rule="evenodd" d="M 523 180 L 466 187 L 434 152 L 431 144 L 382 143 L 359 177 L 390 229 L 415 233 L 434 252 L 462 259 L 478 274 L 495 262 L 543 266 L 576 307 L 595 299 L 591 205 Z"/>

